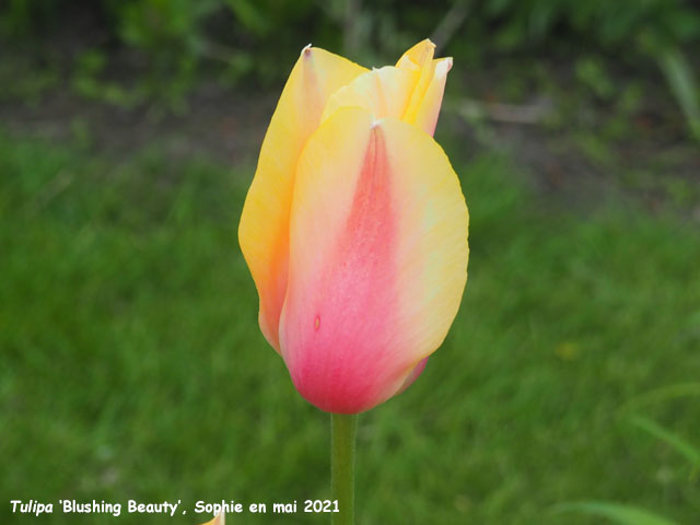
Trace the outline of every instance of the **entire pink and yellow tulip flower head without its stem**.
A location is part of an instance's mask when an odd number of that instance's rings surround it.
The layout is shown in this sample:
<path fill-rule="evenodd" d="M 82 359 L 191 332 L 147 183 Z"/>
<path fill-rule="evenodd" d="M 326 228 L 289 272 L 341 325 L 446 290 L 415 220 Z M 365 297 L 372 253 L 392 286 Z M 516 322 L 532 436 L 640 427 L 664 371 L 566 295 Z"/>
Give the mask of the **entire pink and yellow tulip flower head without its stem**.
<path fill-rule="evenodd" d="M 335 415 L 415 381 L 466 284 L 467 207 L 432 137 L 452 59 L 433 52 L 423 40 L 366 70 L 304 48 L 244 205 L 260 329 L 300 394 Z"/>

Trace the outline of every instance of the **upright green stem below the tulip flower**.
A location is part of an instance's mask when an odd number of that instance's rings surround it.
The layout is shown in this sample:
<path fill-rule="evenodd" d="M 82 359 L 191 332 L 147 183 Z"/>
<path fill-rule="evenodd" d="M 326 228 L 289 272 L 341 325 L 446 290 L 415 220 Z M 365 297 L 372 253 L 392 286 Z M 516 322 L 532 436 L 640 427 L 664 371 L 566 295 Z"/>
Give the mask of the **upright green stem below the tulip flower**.
<path fill-rule="evenodd" d="M 332 525 L 354 524 L 354 442 L 358 434 L 357 413 L 330 415 L 330 488 L 338 511 Z"/>

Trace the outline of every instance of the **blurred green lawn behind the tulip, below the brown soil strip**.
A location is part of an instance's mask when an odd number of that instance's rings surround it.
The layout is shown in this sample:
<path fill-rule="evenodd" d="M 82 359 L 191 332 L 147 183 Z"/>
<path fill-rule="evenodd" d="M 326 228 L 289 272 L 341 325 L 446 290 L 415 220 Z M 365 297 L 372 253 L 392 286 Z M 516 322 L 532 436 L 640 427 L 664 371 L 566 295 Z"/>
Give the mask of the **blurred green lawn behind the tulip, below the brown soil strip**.
<path fill-rule="evenodd" d="M 574 214 L 514 170 L 491 155 L 457 163 L 471 222 L 465 299 L 421 378 L 360 419 L 358 522 L 592 524 L 551 508 L 596 499 L 695 523 L 697 477 L 623 407 L 698 378 L 697 225 L 621 201 Z M 257 328 L 236 241 L 252 174 L 0 135 L 5 500 L 188 510 L 122 510 L 129 525 L 201 523 L 197 500 L 329 497 L 328 417 Z M 699 441 L 697 398 L 644 413 Z M 7 503 L 0 516 L 35 523 Z M 56 508 L 43 523 L 113 520 Z"/>

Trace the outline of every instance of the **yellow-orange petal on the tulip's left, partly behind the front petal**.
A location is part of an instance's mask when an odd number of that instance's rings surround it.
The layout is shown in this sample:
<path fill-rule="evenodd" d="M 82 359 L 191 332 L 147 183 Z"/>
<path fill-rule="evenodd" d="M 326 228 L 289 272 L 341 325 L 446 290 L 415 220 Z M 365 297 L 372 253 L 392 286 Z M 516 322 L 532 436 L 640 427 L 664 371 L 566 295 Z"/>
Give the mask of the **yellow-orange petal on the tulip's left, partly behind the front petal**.
<path fill-rule="evenodd" d="M 342 57 L 306 47 L 284 85 L 262 142 L 243 207 L 238 241 L 260 299 L 260 329 L 278 351 L 296 162 L 328 97 L 364 71 Z"/>

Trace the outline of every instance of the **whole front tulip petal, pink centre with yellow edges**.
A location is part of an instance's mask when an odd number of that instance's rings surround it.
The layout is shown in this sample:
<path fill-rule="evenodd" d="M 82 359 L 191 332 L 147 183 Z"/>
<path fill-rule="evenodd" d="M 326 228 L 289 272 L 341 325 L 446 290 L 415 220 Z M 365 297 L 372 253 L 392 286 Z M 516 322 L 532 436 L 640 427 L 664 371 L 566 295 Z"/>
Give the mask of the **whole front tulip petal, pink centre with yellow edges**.
<path fill-rule="evenodd" d="M 324 410 L 370 409 L 418 375 L 459 305 L 456 175 L 420 130 L 341 108 L 300 159 L 290 229 L 280 342 L 292 381 Z"/>

